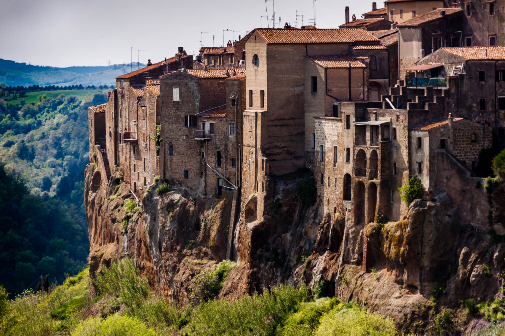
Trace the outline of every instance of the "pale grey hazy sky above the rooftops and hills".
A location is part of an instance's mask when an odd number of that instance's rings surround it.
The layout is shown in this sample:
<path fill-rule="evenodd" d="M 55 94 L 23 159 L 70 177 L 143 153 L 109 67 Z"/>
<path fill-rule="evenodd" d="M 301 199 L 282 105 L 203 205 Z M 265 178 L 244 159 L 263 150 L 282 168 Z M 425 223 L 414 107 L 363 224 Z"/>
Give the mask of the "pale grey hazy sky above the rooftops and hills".
<path fill-rule="evenodd" d="M 295 24 L 295 11 L 311 24 L 313 0 L 268 0 L 268 15 L 275 6 L 276 27 Z M 344 8 L 357 18 L 372 10 L 372 1 L 317 0 L 318 28 L 338 28 Z M 383 7 L 382 2 L 377 6 Z M 33 65 L 98 66 L 173 57 L 178 46 L 198 53 L 203 45 L 223 44 L 254 28 L 267 27 L 265 0 L 0 0 L 0 58 Z M 262 23 L 260 17 L 264 16 Z M 298 18 L 298 27 L 301 18 Z M 270 26 L 272 26 L 270 19 Z M 231 31 L 235 32 L 232 33 Z"/>

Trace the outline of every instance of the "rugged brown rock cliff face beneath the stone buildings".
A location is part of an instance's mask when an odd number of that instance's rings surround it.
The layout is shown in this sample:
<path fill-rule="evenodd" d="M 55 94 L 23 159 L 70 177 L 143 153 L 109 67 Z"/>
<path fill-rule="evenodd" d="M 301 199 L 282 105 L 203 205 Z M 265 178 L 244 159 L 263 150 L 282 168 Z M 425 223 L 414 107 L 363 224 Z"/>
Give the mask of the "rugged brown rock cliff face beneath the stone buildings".
<path fill-rule="evenodd" d="M 136 204 L 121 178 L 114 171 L 104 186 L 99 171 L 86 167 L 91 276 L 129 256 L 159 293 L 178 304 L 189 302 L 195 276 L 226 256 L 232 192 L 201 198 L 174 188 L 157 195 L 154 184 Z M 268 182 L 261 221 L 250 218 L 258 200 L 251 196 L 244 203 L 232 233 L 231 255 L 238 266 L 221 298 L 261 293 L 281 283 L 324 285 L 327 295 L 359 302 L 392 317 L 403 330 L 414 330 L 441 307 L 502 297 L 505 237 L 487 230 L 501 227 L 505 217 L 501 203 L 493 205 L 501 202 L 503 193 L 497 191 L 503 184 L 489 196 L 489 226 L 482 230 L 486 219 L 477 218 L 478 226 L 465 222 L 441 188 L 435 199 L 405 206 L 397 222 L 351 226 L 346 216 L 352 213 L 332 219 L 319 202 L 301 203 L 299 180 Z"/>

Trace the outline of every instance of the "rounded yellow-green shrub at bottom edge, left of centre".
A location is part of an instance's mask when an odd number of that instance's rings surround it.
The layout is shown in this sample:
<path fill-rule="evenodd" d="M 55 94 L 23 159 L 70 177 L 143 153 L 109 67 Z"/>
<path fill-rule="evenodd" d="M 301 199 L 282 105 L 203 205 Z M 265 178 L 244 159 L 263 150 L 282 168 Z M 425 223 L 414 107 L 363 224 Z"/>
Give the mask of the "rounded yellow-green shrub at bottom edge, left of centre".
<path fill-rule="evenodd" d="M 71 333 L 72 336 L 155 336 L 141 320 L 127 315 L 114 314 L 106 319 L 91 317 L 81 323 Z"/>

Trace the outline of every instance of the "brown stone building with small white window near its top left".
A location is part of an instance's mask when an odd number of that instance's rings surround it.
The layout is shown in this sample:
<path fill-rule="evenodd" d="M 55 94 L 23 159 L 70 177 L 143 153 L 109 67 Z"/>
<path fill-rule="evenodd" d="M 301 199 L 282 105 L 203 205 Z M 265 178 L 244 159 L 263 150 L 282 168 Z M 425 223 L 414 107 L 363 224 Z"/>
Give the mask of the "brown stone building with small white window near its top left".
<path fill-rule="evenodd" d="M 204 69 L 161 76 L 161 179 L 203 197 L 237 186 L 244 74 Z"/>

